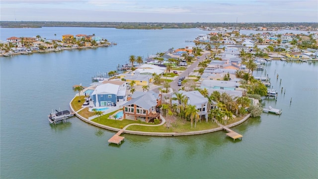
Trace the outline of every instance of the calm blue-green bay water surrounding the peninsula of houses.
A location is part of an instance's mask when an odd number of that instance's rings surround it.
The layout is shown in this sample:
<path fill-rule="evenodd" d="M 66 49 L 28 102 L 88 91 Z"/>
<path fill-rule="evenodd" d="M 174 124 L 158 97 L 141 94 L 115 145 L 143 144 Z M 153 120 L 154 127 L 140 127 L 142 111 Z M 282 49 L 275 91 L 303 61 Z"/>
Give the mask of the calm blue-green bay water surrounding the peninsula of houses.
<path fill-rule="evenodd" d="M 318 64 L 273 61 L 266 73 L 278 99 L 262 103 L 283 110 L 263 113 L 234 130 L 183 137 L 124 134 L 122 145 L 108 145 L 114 132 L 74 117 L 50 125 L 52 109 L 69 108 L 72 86 L 90 84 L 97 72 L 115 70 L 130 55 L 180 48 L 199 29 L 122 30 L 113 28 L 0 29 L 10 36 L 55 38 L 54 33 L 92 34 L 117 46 L 58 53 L 0 57 L 0 176 L 6 178 L 317 178 Z M 57 37 L 58 38 L 58 37 Z M 264 72 L 254 72 L 263 75 Z M 276 75 L 279 74 L 278 80 Z M 280 79 L 282 83 L 280 84 Z M 281 88 L 286 89 L 284 95 Z M 290 99 L 292 97 L 292 103 Z"/>

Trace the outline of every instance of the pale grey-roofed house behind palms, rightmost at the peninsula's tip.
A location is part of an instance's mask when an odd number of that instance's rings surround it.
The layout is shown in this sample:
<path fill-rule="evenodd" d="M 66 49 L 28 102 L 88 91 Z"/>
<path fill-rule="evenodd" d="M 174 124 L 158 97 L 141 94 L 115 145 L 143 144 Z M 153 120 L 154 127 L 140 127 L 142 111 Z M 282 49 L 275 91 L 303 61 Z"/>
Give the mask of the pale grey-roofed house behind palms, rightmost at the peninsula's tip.
<path fill-rule="evenodd" d="M 179 90 L 177 93 L 181 93 L 182 95 L 188 98 L 187 104 L 188 105 L 195 105 L 198 109 L 198 114 L 201 118 L 208 120 L 208 99 L 205 98 L 198 90 L 193 91 L 184 91 Z M 175 94 L 172 94 L 171 98 L 176 97 Z M 178 104 L 177 100 L 172 100 L 172 104 Z"/>

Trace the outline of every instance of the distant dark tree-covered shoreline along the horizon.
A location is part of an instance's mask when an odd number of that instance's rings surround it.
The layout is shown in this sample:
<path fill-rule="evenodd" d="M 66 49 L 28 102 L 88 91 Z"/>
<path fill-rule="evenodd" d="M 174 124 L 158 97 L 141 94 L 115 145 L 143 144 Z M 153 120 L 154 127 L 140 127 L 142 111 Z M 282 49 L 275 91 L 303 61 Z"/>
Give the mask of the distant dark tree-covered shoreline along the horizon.
<path fill-rule="evenodd" d="M 236 30 L 253 30 L 266 26 L 270 29 L 317 31 L 318 22 L 65 22 L 65 21 L 0 21 L 1 28 L 41 28 L 41 27 L 103 27 L 118 29 L 164 29 L 164 28 L 202 28 L 202 27 L 234 27 Z M 235 30 L 233 29 L 233 30 Z"/>

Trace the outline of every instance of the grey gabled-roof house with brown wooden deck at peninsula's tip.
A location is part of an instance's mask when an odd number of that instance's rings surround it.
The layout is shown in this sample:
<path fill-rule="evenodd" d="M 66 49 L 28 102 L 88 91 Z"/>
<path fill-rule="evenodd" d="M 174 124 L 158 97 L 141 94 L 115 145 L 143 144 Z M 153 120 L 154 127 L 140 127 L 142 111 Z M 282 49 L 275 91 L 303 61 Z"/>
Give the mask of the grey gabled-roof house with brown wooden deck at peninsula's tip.
<path fill-rule="evenodd" d="M 155 91 L 136 91 L 131 100 L 123 105 L 125 119 L 150 119 L 159 118 L 159 105 L 161 104 L 161 94 Z"/>

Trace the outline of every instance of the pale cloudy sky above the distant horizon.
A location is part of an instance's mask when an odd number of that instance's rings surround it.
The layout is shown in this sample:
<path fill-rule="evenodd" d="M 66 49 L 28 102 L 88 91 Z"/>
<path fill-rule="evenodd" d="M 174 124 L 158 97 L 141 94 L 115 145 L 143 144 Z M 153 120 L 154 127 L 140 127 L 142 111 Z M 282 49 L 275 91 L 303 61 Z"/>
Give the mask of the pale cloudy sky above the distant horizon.
<path fill-rule="evenodd" d="M 3 21 L 318 22 L 318 0 L 0 0 Z"/>

